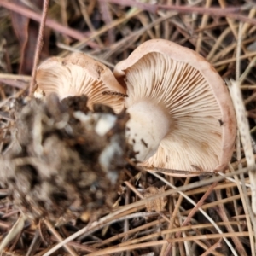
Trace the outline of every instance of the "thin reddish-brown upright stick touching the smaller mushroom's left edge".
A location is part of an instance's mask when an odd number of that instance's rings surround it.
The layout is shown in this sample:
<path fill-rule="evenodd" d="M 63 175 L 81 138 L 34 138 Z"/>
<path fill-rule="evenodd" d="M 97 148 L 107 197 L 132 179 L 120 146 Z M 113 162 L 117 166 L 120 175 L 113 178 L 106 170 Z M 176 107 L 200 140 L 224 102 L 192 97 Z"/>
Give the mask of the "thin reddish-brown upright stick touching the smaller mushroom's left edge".
<path fill-rule="evenodd" d="M 43 44 L 44 44 L 44 26 L 45 26 L 45 20 L 46 20 L 46 16 L 47 16 L 48 6 L 49 6 L 49 0 L 44 0 L 43 15 L 42 15 L 41 24 L 39 27 L 37 48 L 35 51 L 34 63 L 33 63 L 33 67 L 32 67 L 32 81 L 29 86 L 29 95 L 30 96 L 32 96 L 32 94 L 34 93 L 34 90 L 35 90 L 37 67 L 38 67 L 39 57 L 40 57 L 40 54 L 41 54 L 41 51 L 43 48 Z"/>

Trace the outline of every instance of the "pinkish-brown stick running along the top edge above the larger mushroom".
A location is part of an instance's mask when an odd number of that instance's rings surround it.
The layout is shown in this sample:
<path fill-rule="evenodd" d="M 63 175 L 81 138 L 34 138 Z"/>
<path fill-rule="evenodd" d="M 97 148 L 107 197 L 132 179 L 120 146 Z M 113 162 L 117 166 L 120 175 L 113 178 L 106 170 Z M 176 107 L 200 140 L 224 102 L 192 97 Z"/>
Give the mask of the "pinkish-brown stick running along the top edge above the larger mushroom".
<path fill-rule="evenodd" d="M 247 22 L 252 25 L 256 25 L 256 20 L 250 19 L 245 15 L 237 14 L 242 10 L 241 7 L 231 7 L 231 8 L 203 8 L 203 7 L 187 7 L 187 6 L 177 6 L 177 5 L 165 5 L 165 4 L 149 4 L 149 3 L 140 3 L 132 0 L 100 0 L 106 1 L 109 3 L 116 3 L 119 5 L 125 6 L 136 6 L 139 9 L 147 10 L 148 12 L 156 13 L 158 9 L 170 9 L 176 11 L 180 14 L 200 14 L 200 15 L 214 15 L 218 17 L 230 17 L 235 20 L 240 20 L 242 22 Z"/>

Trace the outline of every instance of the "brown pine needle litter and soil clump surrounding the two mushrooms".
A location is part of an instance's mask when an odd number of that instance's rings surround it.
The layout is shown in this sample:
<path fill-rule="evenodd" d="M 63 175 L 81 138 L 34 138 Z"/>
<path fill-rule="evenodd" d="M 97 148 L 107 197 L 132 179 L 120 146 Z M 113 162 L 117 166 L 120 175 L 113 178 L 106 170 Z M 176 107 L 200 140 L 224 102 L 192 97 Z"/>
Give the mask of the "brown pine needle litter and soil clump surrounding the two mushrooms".
<path fill-rule="evenodd" d="M 101 2 L 104 3 L 67 2 L 66 9 L 58 1 L 50 2 L 50 20 L 46 22 L 51 28 L 49 56 L 81 50 L 113 67 L 149 38 L 165 38 L 196 49 L 224 79 L 240 81 L 247 102 L 250 128 L 247 135 L 253 143 L 256 131 L 253 1 L 163 0 L 157 3 L 160 9 L 152 1 L 140 5 L 123 1 L 125 7 L 111 1 Z M 7 3 L 0 1 L 7 9 L 22 10 L 20 15 L 27 18 L 31 19 L 32 14 L 36 20 L 40 18 L 32 6 L 21 9 L 18 3 L 16 6 Z M 217 9 L 207 11 L 208 7 Z M 235 7 L 236 14 L 225 9 L 229 7 Z M 63 102 L 55 95 L 46 101 L 25 96 L 30 78 L 22 76 L 24 67 L 20 65 L 26 62 L 21 61 L 19 51 L 22 47 L 31 49 L 15 40 L 12 27 L 17 24 L 12 25 L 5 8 L 0 9 L 2 240 L 11 233 L 11 227 L 17 226 L 17 220 L 23 219 L 23 213 L 26 218 L 3 255 L 255 254 L 252 190 L 239 137 L 230 166 L 225 170 L 230 176 L 219 173 L 221 180 L 218 175 L 181 178 L 159 176 L 154 170 L 145 172 L 127 160 L 131 152 L 124 144 L 128 118 L 125 113 L 116 115 L 104 106 L 96 106 L 92 113 L 84 104 L 87 101 L 84 96 Z M 30 37 L 36 40 L 34 33 Z M 241 48 L 240 55 L 236 54 L 237 47 Z M 28 54 L 22 52 L 24 56 Z M 43 53 L 41 58 L 44 57 Z M 96 124 L 106 116 L 115 121 L 102 136 L 96 132 Z M 106 158 L 100 156 L 111 143 L 118 147 L 106 164 L 100 161 Z M 253 156 L 255 159 L 255 148 Z M 253 166 L 250 167 L 253 172 Z M 241 172 L 245 174 L 236 174 Z M 218 182 L 209 186 L 207 182 L 214 178 Z M 150 188 L 158 192 L 148 193 Z M 183 194 L 179 189 L 183 189 Z M 154 207 L 157 204 L 160 207 Z"/>

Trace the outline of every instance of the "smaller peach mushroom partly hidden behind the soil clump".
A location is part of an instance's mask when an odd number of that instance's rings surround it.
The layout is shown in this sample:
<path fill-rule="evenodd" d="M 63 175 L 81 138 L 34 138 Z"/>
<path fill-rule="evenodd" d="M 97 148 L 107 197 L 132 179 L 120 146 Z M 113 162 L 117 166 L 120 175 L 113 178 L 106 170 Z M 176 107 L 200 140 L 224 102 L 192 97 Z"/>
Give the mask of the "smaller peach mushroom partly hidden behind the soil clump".
<path fill-rule="evenodd" d="M 124 108 L 125 89 L 108 67 L 84 53 L 76 52 L 66 58 L 52 57 L 44 61 L 38 67 L 36 82 L 35 96 L 51 92 L 60 99 L 86 95 L 90 109 L 95 103 L 108 105 L 116 113 Z"/>

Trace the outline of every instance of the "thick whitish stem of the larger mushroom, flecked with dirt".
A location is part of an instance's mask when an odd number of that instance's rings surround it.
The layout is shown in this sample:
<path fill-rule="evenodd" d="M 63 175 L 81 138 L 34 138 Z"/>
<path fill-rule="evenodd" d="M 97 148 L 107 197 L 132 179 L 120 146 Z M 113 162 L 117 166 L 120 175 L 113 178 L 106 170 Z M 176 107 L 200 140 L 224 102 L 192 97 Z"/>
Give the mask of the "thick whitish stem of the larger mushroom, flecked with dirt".
<path fill-rule="evenodd" d="M 166 137 L 170 118 L 158 103 L 149 99 L 133 104 L 127 112 L 130 114 L 125 131 L 127 141 L 133 145 L 138 161 L 147 160 Z"/>

